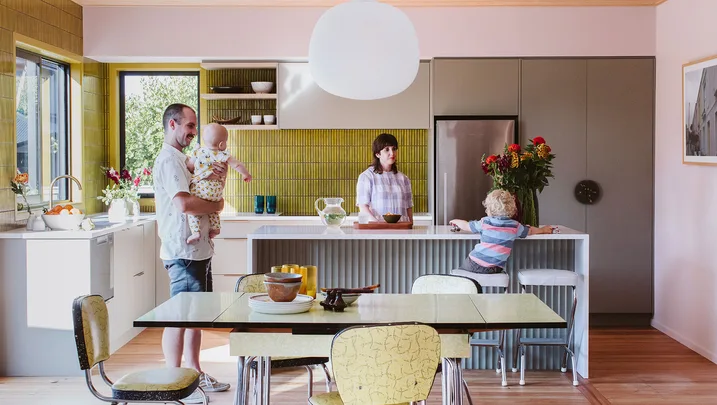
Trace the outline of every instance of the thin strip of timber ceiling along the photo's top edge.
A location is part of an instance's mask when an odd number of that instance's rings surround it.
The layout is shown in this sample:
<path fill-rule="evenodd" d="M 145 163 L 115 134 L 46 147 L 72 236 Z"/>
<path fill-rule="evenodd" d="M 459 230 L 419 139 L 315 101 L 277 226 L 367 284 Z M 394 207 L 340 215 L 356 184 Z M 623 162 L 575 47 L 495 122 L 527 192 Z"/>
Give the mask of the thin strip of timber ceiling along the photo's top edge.
<path fill-rule="evenodd" d="M 82 6 L 330 7 L 346 0 L 73 0 Z M 656 6 L 667 0 L 386 0 L 402 7 Z"/>

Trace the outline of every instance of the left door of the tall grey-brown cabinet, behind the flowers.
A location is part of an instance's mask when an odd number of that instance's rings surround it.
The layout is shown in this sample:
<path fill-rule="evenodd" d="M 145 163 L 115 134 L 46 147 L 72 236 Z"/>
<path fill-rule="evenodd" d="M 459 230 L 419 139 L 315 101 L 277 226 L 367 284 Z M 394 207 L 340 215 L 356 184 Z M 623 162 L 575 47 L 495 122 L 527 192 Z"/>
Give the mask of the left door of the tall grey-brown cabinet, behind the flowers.
<path fill-rule="evenodd" d="M 587 61 L 523 60 L 521 78 L 521 145 L 542 136 L 556 155 L 555 178 L 539 195 L 539 220 L 585 232 L 586 208 L 573 197 L 573 189 L 587 170 Z"/>

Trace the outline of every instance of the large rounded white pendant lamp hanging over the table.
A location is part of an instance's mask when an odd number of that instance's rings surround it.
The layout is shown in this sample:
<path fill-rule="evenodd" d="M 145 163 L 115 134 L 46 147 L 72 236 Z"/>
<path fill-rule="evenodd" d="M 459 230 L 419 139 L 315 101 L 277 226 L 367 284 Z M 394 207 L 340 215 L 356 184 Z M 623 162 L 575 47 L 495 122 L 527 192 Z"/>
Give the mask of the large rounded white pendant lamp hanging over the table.
<path fill-rule="evenodd" d="M 377 100 L 406 90 L 419 66 L 416 30 L 401 10 L 351 0 L 327 10 L 309 43 L 309 70 L 333 95 Z"/>

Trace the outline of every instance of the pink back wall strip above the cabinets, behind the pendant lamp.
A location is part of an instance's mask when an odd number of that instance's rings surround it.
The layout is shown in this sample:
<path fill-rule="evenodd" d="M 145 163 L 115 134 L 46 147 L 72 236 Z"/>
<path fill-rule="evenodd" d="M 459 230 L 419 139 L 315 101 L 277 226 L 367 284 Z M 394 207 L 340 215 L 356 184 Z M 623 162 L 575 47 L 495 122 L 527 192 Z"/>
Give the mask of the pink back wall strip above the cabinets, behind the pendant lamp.
<path fill-rule="evenodd" d="M 103 61 L 305 59 L 323 9 L 85 7 Z M 654 7 L 409 8 L 423 58 L 654 56 Z"/>

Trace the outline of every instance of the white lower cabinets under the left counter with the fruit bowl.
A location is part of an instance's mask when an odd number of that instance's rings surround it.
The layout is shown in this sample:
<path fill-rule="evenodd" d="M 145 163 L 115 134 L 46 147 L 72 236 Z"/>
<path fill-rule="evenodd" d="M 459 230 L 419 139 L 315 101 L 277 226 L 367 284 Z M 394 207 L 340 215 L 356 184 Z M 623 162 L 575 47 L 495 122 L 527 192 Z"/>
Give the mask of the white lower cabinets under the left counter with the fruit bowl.
<path fill-rule="evenodd" d="M 132 323 L 155 301 L 155 222 L 127 226 L 94 238 L 0 238 L 0 375 L 80 375 L 72 303 L 108 297 L 110 284 L 110 351 L 141 331 Z"/>

